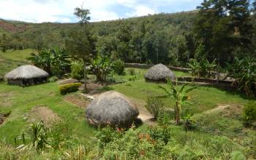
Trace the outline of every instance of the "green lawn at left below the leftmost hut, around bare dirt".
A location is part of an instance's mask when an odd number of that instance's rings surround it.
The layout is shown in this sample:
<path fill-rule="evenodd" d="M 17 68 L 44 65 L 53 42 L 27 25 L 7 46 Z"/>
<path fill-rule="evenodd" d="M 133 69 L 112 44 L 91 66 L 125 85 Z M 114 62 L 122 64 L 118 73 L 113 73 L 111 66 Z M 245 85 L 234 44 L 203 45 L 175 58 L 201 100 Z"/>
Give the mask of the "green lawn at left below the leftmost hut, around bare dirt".
<path fill-rule="evenodd" d="M 59 94 L 56 83 L 25 88 L 0 83 L 0 102 L 1 113 L 12 111 L 7 121 L 0 126 L 0 140 L 7 143 L 13 144 L 14 138 L 29 126 L 29 121 L 25 121 L 24 117 L 38 105 L 47 106 L 62 119 L 71 118 L 73 136 L 79 137 L 81 143 L 86 143 L 91 135 L 94 135 L 94 129 L 89 127 L 84 119 L 84 111 L 65 101 Z"/>

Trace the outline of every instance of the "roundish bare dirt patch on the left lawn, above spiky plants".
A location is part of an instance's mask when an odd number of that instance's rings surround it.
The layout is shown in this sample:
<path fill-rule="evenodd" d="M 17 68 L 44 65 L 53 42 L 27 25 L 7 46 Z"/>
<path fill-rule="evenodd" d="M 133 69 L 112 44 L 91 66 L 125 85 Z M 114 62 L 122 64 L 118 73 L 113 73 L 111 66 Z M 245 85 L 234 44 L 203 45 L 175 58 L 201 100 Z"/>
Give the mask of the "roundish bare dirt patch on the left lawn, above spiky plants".
<path fill-rule="evenodd" d="M 32 123 L 43 121 L 47 127 L 50 127 L 53 121 L 59 121 L 59 116 L 45 105 L 34 107 L 29 113 L 29 121 Z"/>

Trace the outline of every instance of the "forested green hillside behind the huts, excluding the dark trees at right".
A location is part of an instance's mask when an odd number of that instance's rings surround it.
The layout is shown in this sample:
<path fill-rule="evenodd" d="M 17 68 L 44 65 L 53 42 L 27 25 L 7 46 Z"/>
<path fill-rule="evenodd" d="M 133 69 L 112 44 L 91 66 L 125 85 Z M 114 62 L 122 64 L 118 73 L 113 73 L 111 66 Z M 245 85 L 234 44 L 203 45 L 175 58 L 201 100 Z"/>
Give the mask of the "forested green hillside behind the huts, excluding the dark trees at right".
<path fill-rule="evenodd" d="M 97 38 L 100 54 L 127 62 L 170 63 L 172 59 L 187 60 L 187 52 L 193 52 L 187 43 L 192 40 L 189 38 L 195 15 L 196 11 L 180 12 L 91 23 L 91 31 Z M 6 33 L 10 49 L 64 47 L 69 31 L 76 25 L 0 20 L 0 33 Z"/>

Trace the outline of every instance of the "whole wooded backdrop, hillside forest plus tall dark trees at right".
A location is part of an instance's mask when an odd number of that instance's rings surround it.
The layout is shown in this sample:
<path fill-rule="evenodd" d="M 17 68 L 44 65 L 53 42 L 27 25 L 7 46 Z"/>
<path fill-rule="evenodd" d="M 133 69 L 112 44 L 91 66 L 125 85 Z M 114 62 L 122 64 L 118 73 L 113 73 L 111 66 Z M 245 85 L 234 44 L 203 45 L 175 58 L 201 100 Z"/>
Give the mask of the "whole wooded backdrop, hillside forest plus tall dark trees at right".
<path fill-rule="evenodd" d="M 91 33 L 97 39 L 96 52 L 126 63 L 178 66 L 187 65 L 191 58 L 217 58 L 225 65 L 234 57 L 255 57 L 256 17 L 248 2 L 209 3 L 192 12 L 90 23 Z M 233 6 L 227 12 L 225 5 Z M 12 32 L 2 41 L 7 41 L 8 49 L 65 47 L 70 31 L 77 25 L 27 23 L 23 31 Z"/>

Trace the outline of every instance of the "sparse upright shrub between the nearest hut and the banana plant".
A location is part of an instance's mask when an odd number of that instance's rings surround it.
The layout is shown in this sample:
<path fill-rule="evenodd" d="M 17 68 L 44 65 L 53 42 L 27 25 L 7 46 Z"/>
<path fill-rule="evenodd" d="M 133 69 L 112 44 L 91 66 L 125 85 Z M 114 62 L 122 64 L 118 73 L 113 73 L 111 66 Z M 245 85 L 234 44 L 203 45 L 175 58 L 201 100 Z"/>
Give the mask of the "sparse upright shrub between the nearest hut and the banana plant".
<path fill-rule="evenodd" d="M 154 119 L 157 119 L 159 113 L 164 108 L 164 104 L 162 103 L 162 100 L 160 100 L 158 97 L 151 96 L 147 97 L 145 107 L 151 114 L 153 114 Z"/>

